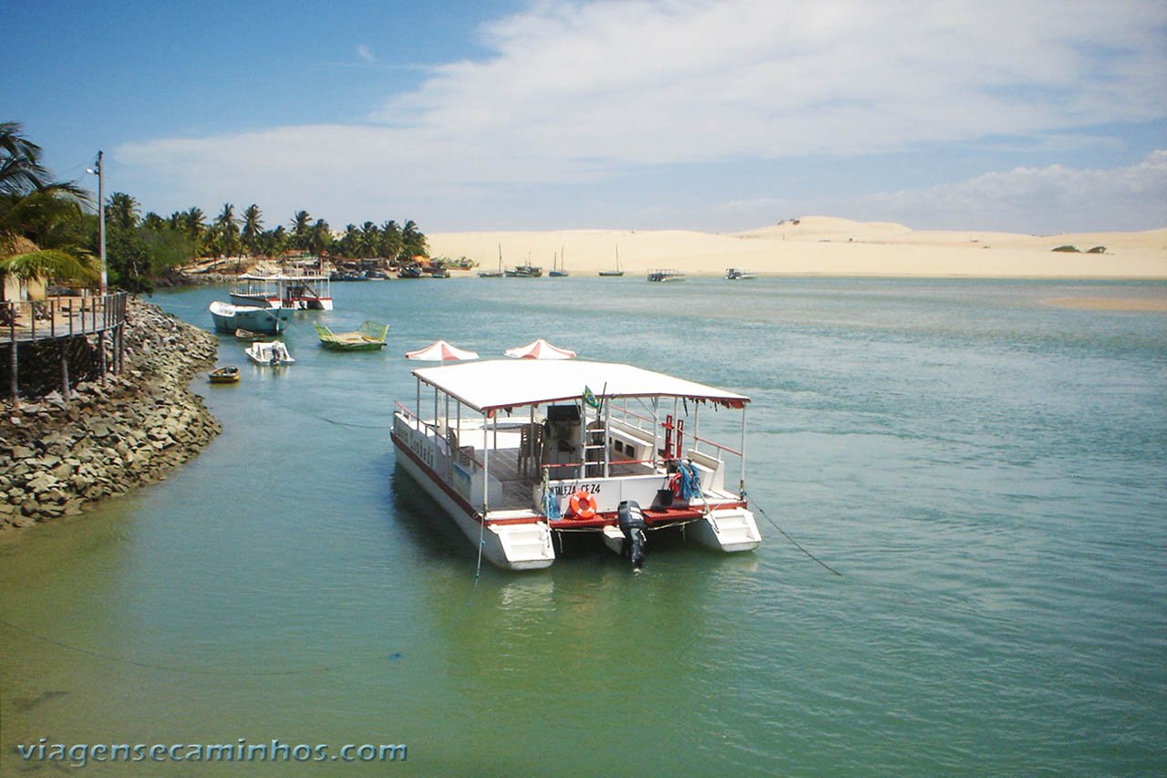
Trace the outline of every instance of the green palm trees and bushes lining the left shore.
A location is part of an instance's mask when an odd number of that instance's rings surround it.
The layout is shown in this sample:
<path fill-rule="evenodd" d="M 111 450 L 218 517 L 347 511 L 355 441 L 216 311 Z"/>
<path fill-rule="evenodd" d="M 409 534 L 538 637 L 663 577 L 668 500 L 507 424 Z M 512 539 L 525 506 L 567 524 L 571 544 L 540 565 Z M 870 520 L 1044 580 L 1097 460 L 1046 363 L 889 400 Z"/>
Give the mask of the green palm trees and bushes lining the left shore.
<path fill-rule="evenodd" d="M 54 182 L 41 165 L 41 148 L 15 123 L 0 124 L 0 275 L 93 284 L 99 255 L 97 216 L 88 192 Z M 173 269 L 198 257 L 278 257 L 300 251 L 337 259 L 394 262 L 427 256 L 426 236 L 415 222 L 349 224 L 335 235 L 323 218 L 306 210 L 287 227 L 264 229 L 252 203 L 236 214 L 223 203 L 214 218 L 197 206 L 169 217 L 147 211 L 132 195 L 114 192 L 105 203 L 110 286 L 149 292 Z M 29 253 L 35 256 L 26 256 Z"/>

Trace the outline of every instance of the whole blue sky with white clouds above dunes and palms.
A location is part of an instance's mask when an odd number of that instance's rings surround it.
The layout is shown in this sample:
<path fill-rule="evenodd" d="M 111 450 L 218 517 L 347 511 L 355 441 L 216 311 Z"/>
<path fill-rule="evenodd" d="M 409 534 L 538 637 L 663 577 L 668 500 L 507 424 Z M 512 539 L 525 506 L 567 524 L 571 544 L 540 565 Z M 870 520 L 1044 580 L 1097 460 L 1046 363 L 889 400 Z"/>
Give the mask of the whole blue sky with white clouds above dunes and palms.
<path fill-rule="evenodd" d="M 60 178 L 104 150 L 109 190 L 162 215 L 1167 227 L 1161 0 L 14 0 L 4 18 L 0 119 Z"/>

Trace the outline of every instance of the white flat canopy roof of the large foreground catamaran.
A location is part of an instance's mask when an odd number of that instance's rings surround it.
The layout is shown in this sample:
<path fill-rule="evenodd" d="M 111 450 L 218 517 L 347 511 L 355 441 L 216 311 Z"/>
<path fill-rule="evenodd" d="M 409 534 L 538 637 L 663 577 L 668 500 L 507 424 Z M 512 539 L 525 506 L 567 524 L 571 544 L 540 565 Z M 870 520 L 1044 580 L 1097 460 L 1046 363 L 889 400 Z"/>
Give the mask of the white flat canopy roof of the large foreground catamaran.
<path fill-rule="evenodd" d="M 501 409 L 578 400 L 586 388 L 596 397 L 683 397 L 729 408 L 749 402 L 745 395 L 615 362 L 489 360 L 419 368 L 413 375 L 488 416 Z"/>

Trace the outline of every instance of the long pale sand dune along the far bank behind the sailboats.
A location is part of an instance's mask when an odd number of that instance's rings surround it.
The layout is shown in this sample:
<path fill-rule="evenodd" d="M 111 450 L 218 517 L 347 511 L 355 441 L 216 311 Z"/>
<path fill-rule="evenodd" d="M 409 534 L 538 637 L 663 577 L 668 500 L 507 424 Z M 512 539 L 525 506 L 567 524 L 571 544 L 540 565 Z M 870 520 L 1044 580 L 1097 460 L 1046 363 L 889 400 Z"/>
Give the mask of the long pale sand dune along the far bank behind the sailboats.
<path fill-rule="evenodd" d="M 720 276 L 726 268 L 759 275 L 908 276 L 979 278 L 1167 279 L 1167 229 L 1144 232 L 1016 235 L 916 231 L 902 224 L 808 216 L 747 232 L 686 230 L 554 230 L 429 234 L 433 256 L 469 257 L 483 268 L 531 263 L 595 273 L 615 266 L 629 276 L 676 268 Z M 1081 253 L 1055 252 L 1074 245 Z M 1085 253 L 1095 246 L 1105 253 Z"/>

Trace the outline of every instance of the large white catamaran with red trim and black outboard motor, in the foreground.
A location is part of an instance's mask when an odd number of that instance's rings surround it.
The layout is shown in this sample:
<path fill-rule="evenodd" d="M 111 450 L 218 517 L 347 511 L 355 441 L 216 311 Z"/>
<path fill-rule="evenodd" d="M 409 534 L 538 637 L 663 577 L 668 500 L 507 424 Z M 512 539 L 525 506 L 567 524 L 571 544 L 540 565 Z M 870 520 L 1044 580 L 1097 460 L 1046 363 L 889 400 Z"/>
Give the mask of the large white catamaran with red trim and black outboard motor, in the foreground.
<path fill-rule="evenodd" d="M 505 360 L 421 368 L 400 402 L 398 464 L 501 568 L 545 568 L 591 532 L 638 568 L 655 529 L 757 548 L 745 496 L 745 397 L 628 364 Z M 588 387 L 599 387 L 599 395 Z M 700 436 L 703 407 L 741 409 L 739 449 Z M 724 417 L 718 429 L 725 426 Z M 740 466 L 726 487 L 726 458 Z"/>

